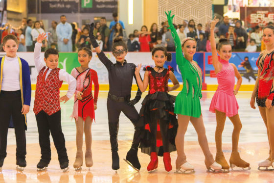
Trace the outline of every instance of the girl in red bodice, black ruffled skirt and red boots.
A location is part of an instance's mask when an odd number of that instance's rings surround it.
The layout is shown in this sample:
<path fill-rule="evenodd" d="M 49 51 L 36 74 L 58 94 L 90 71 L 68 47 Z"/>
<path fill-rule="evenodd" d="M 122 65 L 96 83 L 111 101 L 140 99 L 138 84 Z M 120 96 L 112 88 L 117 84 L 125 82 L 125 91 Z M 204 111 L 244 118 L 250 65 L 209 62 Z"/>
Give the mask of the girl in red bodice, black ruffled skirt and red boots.
<path fill-rule="evenodd" d="M 176 151 L 175 136 L 177 133 L 178 122 L 176 114 L 173 113 L 176 97 L 167 92 L 176 90 L 180 84 L 173 74 L 173 68 L 163 68 L 165 60 L 171 61 L 171 53 L 167 53 L 163 47 L 157 47 L 152 50 L 152 59 L 155 67 L 147 66 L 144 68 L 145 75 L 142 81 L 139 75 L 141 64 L 135 71 L 138 86 L 141 92 L 144 92 L 149 85 L 149 94 L 142 102 L 140 110 L 140 126 L 145 126 L 145 135 L 141 140 L 140 148 L 143 153 L 150 155 L 150 163 L 147 166 L 149 172 L 158 167 L 158 155 L 163 156 L 164 168 L 171 171 L 170 152 Z M 168 80 L 171 79 L 173 87 L 168 86 Z M 160 126 L 160 136 L 162 142 L 157 142 L 158 125 Z M 160 149 L 156 148 L 158 145 Z M 160 152 L 163 150 L 163 153 Z"/>

